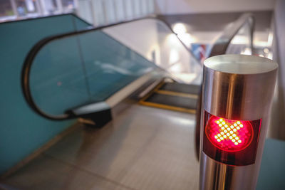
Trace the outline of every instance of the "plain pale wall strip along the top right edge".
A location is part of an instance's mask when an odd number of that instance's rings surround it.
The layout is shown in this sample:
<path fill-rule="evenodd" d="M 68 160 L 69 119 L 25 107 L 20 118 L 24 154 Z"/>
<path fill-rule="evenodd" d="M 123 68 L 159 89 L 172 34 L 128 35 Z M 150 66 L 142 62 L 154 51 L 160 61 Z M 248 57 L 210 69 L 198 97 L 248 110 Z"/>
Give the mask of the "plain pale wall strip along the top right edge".
<path fill-rule="evenodd" d="M 275 0 L 155 0 L 157 14 L 273 10 Z"/>

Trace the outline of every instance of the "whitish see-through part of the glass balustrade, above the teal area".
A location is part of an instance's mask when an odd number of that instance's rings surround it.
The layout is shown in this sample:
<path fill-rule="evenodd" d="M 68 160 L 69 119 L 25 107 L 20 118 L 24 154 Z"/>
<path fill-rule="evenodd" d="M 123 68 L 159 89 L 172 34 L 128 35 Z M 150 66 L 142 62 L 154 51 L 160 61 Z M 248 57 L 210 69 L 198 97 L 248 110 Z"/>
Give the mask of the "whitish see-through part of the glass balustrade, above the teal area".
<path fill-rule="evenodd" d="M 147 60 L 153 61 L 170 73 L 172 78 L 182 83 L 201 83 L 202 66 L 165 23 L 145 19 L 105 28 L 104 31 Z M 185 28 L 177 25 L 175 31 L 185 32 Z M 185 41 L 190 42 L 189 37 L 185 37 Z"/>

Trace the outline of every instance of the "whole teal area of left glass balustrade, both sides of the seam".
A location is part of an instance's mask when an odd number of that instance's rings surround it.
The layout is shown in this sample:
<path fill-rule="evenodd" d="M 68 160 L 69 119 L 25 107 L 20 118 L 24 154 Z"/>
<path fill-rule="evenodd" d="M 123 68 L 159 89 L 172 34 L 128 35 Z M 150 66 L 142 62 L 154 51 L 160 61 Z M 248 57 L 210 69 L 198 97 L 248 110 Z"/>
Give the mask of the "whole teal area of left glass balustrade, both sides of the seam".
<path fill-rule="evenodd" d="M 31 68 L 31 94 L 49 115 L 106 100 L 156 68 L 102 31 L 58 38 L 43 46 Z"/>

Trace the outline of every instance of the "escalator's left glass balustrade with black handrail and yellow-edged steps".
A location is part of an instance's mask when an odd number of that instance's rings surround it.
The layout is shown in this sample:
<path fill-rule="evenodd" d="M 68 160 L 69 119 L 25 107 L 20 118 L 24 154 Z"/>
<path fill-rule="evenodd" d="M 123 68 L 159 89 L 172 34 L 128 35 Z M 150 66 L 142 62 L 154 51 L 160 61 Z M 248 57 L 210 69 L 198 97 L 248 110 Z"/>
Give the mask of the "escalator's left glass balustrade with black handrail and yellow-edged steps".
<path fill-rule="evenodd" d="M 133 48 L 130 38 L 122 43 L 123 37 L 114 33 L 130 24 L 138 31 L 145 28 L 148 36 L 157 32 L 159 38 L 146 48 Z M 82 117 L 97 127 L 112 119 L 116 105 L 145 87 L 150 92 L 140 97 L 140 105 L 194 114 L 201 80 L 202 65 L 169 26 L 154 18 L 44 38 L 33 46 L 22 70 L 24 96 L 39 115 L 50 120 Z M 151 89 L 147 85 L 152 83 L 157 85 Z"/>

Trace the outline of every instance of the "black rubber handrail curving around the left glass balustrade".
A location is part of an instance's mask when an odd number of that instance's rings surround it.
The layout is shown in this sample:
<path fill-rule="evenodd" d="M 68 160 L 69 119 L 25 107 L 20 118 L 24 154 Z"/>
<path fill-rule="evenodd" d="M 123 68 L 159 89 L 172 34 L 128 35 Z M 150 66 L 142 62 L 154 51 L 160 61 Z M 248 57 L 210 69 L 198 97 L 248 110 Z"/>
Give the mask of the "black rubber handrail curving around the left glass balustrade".
<path fill-rule="evenodd" d="M 89 26 L 88 28 L 80 30 L 80 31 L 73 31 L 73 32 L 62 33 L 62 34 L 58 34 L 58 35 L 54 35 L 54 36 L 48 36 L 46 38 L 43 38 L 41 41 L 38 41 L 38 43 L 36 43 L 36 45 L 34 45 L 33 48 L 31 48 L 31 51 L 28 52 L 28 55 L 26 56 L 26 59 L 24 60 L 24 65 L 23 65 L 23 68 L 21 71 L 21 88 L 22 88 L 22 91 L 24 93 L 24 97 L 26 99 L 26 102 L 28 102 L 28 105 L 33 109 L 33 111 L 38 113 L 38 115 L 46 117 L 50 120 L 67 120 L 67 119 L 71 119 L 74 117 L 73 115 L 70 115 L 68 113 L 64 113 L 62 115 L 49 115 L 46 112 L 43 112 L 43 110 L 41 110 L 41 108 L 36 105 L 36 102 L 34 102 L 33 97 L 31 95 L 30 72 L 31 72 L 31 67 L 33 65 L 33 60 L 34 60 L 34 58 L 36 58 L 36 55 L 41 50 L 41 48 L 43 48 L 43 46 L 45 46 L 47 43 L 54 41 L 54 40 L 61 39 L 61 38 L 76 36 L 76 35 L 79 35 L 82 33 L 88 33 L 88 32 L 92 32 L 92 31 L 100 31 L 104 28 L 109 28 L 112 26 L 118 26 L 118 25 L 123 24 L 123 23 L 131 23 L 134 21 L 141 21 L 141 20 L 147 20 L 147 19 L 155 19 L 155 20 L 161 21 L 162 23 L 165 24 L 165 26 L 167 26 L 168 29 L 170 29 L 170 31 L 172 33 L 175 34 L 175 32 L 172 30 L 171 26 L 167 22 L 165 22 L 164 20 L 160 19 L 157 16 L 147 16 L 147 17 L 143 17 L 140 19 L 133 19 L 130 21 L 122 21 L 119 23 L 112 23 L 112 24 L 109 24 L 106 26 L 98 26 L 98 27 Z M 180 41 L 180 43 L 182 43 L 182 41 L 180 40 L 180 38 L 178 38 L 178 36 L 176 34 L 175 34 L 175 36 Z M 185 49 L 191 54 L 192 58 L 194 58 L 197 61 L 197 63 L 199 63 L 197 58 L 195 58 L 195 56 L 193 55 L 192 51 L 190 51 L 190 49 L 188 49 L 184 43 L 182 43 L 182 46 L 184 46 Z"/>

